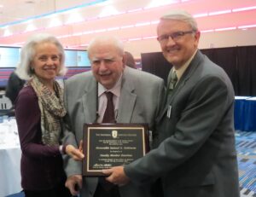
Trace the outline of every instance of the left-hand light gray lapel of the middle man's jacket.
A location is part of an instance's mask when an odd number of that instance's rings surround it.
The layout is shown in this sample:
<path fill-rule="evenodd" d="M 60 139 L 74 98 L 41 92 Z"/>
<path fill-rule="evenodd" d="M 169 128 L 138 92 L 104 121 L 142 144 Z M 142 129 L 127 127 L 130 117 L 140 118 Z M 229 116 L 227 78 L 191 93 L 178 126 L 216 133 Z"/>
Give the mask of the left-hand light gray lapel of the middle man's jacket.
<path fill-rule="evenodd" d="M 84 87 L 84 95 L 82 96 L 82 105 L 84 110 L 84 120 L 86 123 L 94 123 L 96 121 L 97 106 L 97 83 L 95 78 L 91 76 Z"/>

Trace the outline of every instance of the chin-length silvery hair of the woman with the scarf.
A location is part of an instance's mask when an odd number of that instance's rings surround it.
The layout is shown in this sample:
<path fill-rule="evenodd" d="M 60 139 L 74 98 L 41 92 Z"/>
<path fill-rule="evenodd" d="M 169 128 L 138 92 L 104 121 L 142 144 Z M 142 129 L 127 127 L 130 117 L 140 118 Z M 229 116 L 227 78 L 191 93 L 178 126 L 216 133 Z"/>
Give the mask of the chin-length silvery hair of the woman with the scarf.
<path fill-rule="evenodd" d="M 64 66 L 65 61 L 65 52 L 64 49 L 60 43 L 60 41 L 55 38 L 54 36 L 47 34 L 47 33 L 38 33 L 36 35 L 33 35 L 32 38 L 29 38 L 25 45 L 21 48 L 20 51 L 20 63 L 17 66 L 17 69 L 15 72 L 17 75 L 25 80 L 28 80 L 32 78 L 32 74 L 34 73 L 32 71 L 32 60 L 34 56 L 36 55 L 35 48 L 38 45 L 38 43 L 54 43 L 57 49 L 59 50 L 60 55 L 60 63 L 61 63 L 61 69 L 60 72 L 57 73 L 58 76 L 64 76 L 67 72 L 67 68 Z"/>

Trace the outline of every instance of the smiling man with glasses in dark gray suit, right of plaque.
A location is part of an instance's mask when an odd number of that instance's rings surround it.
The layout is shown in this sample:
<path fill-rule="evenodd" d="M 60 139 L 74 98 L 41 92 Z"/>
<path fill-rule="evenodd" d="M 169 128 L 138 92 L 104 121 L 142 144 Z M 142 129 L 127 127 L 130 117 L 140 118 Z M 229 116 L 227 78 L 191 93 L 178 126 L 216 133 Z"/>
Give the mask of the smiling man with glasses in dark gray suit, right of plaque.
<path fill-rule="evenodd" d="M 142 185 L 160 177 L 166 197 L 238 197 L 230 78 L 197 49 L 200 32 L 190 14 L 164 15 L 157 34 L 163 55 L 173 65 L 170 78 L 177 74 L 157 124 L 159 146 L 130 165 L 104 173 L 120 185 Z"/>

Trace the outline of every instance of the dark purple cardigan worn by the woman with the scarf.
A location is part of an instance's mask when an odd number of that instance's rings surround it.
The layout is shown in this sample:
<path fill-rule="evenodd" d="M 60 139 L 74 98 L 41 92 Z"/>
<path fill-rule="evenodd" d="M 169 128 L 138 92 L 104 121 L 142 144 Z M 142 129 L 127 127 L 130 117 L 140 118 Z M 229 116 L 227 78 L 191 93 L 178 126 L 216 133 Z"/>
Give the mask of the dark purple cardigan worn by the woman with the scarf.
<path fill-rule="evenodd" d="M 55 187 L 66 178 L 62 157 L 59 146 L 45 146 L 42 143 L 38 97 L 31 86 L 20 90 L 15 103 L 15 116 L 22 150 L 22 188 L 43 190 Z"/>

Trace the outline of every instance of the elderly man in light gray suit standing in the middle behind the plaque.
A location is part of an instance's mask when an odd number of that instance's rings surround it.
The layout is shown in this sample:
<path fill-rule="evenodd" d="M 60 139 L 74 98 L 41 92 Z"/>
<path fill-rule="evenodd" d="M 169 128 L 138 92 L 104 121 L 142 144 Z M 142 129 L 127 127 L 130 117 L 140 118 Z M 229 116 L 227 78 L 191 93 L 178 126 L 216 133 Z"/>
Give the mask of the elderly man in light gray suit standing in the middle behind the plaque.
<path fill-rule="evenodd" d="M 83 138 L 85 123 L 102 122 L 107 105 L 106 91 L 113 93 L 117 123 L 148 123 L 149 130 L 154 130 L 165 95 L 164 81 L 147 72 L 125 67 L 124 47 L 117 38 L 95 38 L 90 42 L 88 55 L 92 71 L 80 73 L 65 82 L 69 124 L 64 143 L 77 146 Z M 84 177 L 82 183 L 81 170 L 81 162 L 67 158 L 66 186 L 72 194 L 79 194 L 77 185 L 84 197 L 150 196 L 148 187 L 138 187 L 134 183 L 116 186 L 109 191 L 98 184 L 97 177 Z"/>

